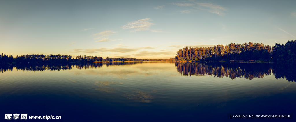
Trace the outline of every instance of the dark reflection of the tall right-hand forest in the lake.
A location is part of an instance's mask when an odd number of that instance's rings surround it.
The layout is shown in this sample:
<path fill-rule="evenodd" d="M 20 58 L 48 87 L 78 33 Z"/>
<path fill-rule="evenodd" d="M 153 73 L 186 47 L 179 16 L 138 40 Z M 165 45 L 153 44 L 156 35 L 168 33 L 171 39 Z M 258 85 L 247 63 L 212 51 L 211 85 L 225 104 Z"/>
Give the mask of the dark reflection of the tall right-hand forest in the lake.
<path fill-rule="evenodd" d="M 184 76 L 210 75 L 218 78 L 263 78 L 273 74 L 276 78 L 287 78 L 295 81 L 295 66 L 293 64 L 271 63 L 228 63 L 228 62 L 176 62 L 177 71 Z"/>

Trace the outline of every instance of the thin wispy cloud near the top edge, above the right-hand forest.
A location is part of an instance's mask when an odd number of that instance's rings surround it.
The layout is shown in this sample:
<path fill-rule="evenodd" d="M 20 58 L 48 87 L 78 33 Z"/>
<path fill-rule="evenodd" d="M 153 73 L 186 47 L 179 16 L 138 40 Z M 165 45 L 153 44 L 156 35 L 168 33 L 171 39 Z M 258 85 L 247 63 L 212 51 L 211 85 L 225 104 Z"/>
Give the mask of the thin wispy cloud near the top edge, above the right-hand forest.
<path fill-rule="evenodd" d="M 214 14 L 218 14 L 220 16 L 223 16 L 224 11 L 227 10 L 226 8 L 219 6 L 219 5 L 210 4 L 210 3 L 199 3 L 196 1 L 190 1 L 189 3 L 173 3 L 173 4 L 176 6 L 187 6 L 187 7 L 196 9 L 196 10 L 180 11 L 181 13 L 190 13 L 192 11 L 203 10 L 203 11 L 208 11 L 210 13 L 214 13 Z"/>

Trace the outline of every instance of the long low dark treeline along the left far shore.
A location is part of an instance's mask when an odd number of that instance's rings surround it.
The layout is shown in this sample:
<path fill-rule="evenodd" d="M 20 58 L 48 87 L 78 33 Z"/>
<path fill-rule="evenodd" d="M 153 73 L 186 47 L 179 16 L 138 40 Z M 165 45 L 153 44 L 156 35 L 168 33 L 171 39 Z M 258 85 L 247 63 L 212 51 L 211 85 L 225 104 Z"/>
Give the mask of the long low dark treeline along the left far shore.
<path fill-rule="evenodd" d="M 0 63 L 92 63 L 92 62 L 117 62 L 117 61 L 149 61 L 148 59 L 136 59 L 136 58 L 102 58 L 98 56 L 76 56 L 72 59 L 71 55 L 44 55 L 44 54 L 24 54 L 21 56 L 13 57 L 1 54 Z"/>

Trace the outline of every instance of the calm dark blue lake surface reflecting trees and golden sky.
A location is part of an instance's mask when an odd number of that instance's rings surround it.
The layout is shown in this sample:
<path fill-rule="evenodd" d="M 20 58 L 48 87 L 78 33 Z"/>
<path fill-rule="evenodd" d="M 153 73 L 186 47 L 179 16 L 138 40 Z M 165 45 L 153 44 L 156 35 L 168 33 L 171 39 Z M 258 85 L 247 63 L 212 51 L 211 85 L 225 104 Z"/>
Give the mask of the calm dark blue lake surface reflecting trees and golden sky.
<path fill-rule="evenodd" d="M 293 65 L 113 62 L 0 69 L 0 121 L 238 121 L 227 119 L 227 113 L 296 115 Z M 61 119 L 4 120 L 15 113 Z"/>

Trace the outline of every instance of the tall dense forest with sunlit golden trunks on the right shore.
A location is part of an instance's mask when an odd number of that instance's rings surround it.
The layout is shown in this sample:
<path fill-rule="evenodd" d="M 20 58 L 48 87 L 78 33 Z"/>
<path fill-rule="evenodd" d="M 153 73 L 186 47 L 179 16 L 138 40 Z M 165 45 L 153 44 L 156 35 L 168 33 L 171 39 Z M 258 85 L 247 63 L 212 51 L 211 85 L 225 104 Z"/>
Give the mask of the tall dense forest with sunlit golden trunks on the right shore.
<path fill-rule="evenodd" d="M 268 60 L 296 61 L 296 40 L 275 46 L 263 43 L 214 45 L 213 47 L 184 47 L 177 51 L 176 61 Z"/>

